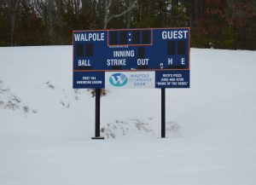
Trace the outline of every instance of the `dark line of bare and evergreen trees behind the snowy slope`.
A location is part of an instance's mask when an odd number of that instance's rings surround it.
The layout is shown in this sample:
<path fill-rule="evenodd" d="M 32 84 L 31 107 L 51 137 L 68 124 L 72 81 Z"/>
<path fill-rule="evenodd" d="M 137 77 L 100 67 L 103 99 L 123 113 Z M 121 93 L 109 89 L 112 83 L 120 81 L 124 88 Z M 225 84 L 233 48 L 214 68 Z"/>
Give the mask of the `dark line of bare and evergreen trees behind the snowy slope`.
<path fill-rule="evenodd" d="M 256 0 L 0 0 L 0 46 L 72 44 L 73 30 L 191 27 L 191 46 L 256 49 Z"/>

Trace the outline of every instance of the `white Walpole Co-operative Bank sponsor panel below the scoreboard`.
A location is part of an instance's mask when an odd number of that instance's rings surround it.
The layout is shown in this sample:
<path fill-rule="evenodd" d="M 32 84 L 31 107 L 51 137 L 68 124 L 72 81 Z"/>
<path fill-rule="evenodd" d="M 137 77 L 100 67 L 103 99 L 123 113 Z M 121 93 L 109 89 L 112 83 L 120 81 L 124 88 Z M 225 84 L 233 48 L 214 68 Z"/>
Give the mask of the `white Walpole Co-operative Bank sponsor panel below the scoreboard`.
<path fill-rule="evenodd" d="M 155 72 L 105 72 L 105 88 L 155 88 Z"/>

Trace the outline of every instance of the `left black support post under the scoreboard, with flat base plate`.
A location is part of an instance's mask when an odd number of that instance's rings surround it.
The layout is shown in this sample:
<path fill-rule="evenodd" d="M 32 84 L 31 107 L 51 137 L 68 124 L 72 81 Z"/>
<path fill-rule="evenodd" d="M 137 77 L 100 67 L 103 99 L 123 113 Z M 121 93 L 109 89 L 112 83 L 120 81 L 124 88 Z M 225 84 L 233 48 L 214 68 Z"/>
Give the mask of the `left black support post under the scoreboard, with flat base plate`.
<path fill-rule="evenodd" d="M 95 136 L 91 139 L 104 139 L 101 137 L 101 89 L 95 90 Z"/>

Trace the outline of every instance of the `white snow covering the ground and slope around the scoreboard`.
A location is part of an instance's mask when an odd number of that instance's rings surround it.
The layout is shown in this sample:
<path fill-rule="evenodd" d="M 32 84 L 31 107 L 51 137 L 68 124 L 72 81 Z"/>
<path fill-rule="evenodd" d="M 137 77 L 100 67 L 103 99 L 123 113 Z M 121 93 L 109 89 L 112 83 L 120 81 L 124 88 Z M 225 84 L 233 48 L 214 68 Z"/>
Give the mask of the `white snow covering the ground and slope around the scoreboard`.
<path fill-rule="evenodd" d="M 0 184 L 256 184 L 256 51 L 191 49 L 191 88 L 72 89 L 72 47 L 0 48 Z"/>

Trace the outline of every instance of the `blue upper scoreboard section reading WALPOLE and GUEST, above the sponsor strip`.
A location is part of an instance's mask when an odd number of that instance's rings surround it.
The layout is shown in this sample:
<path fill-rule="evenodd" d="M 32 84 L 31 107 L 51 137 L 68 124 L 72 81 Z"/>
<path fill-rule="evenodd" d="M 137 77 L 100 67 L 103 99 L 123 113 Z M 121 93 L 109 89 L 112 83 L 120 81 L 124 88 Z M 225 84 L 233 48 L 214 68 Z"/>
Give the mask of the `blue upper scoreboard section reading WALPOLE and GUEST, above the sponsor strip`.
<path fill-rule="evenodd" d="M 189 28 L 73 31 L 73 71 L 189 70 Z"/>

